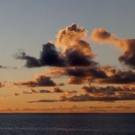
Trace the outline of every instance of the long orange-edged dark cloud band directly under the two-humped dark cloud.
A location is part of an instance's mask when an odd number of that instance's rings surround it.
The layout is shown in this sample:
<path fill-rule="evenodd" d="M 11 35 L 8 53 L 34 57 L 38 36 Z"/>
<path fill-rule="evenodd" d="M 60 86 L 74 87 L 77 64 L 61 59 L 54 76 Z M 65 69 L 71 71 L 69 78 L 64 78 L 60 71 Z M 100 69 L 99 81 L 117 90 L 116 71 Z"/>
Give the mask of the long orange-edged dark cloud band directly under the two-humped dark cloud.
<path fill-rule="evenodd" d="M 120 70 L 110 66 L 51 68 L 49 75 L 68 76 L 68 84 L 134 84 L 135 72 L 131 69 Z"/>

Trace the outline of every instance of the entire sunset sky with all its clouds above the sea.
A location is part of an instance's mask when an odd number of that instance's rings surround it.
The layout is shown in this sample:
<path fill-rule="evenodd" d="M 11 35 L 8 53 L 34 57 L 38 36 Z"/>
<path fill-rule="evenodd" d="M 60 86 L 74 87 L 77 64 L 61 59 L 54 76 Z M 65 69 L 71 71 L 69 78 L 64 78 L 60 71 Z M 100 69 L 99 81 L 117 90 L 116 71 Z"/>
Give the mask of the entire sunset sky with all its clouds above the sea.
<path fill-rule="evenodd" d="M 1 0 L 0 112 L 135 112 L 134 0 Z"/>

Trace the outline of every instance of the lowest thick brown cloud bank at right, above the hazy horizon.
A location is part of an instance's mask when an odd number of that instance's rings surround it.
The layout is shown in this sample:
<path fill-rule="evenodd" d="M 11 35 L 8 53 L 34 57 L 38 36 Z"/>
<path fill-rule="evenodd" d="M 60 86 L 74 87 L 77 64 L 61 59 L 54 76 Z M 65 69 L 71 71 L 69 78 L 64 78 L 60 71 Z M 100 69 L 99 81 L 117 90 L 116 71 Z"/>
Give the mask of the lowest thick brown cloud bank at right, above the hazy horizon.
<path fill-rule="evenodd" d="M 135 100 L 135 87 L 99 87 L 84 86 L 81 88 L 84 94 L 61 95 L 59 101 L 82 102 L 82 101 L 121 101 Z"/>

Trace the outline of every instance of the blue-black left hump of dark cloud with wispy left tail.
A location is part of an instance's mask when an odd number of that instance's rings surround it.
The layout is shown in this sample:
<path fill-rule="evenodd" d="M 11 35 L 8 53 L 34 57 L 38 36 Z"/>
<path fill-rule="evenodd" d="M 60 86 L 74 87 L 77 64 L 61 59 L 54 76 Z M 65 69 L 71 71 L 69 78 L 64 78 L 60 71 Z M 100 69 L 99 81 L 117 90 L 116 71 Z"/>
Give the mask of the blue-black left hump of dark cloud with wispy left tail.
<path fill-rule="evenodd" d="M 56 51 L 54 44 L 47 43 L 43 45 L 43 50 L 40 53 L 40 58 L 37 59 L 28 56 L 25 52 L 20 52 L 15 55 L 16 59 L 26 60 L 25 66 L 28 68 L 41 67 L 41 66 L 64 66 L 62 56 Z"/>

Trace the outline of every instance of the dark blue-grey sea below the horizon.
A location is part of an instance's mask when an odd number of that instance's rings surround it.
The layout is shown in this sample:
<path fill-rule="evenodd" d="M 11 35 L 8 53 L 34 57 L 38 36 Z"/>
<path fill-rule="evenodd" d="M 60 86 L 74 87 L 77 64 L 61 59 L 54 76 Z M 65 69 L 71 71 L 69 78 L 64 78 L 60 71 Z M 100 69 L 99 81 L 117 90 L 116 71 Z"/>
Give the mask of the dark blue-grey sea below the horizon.
<path fill-rule="evenodd" d="M 135 114 L 0 114 L 0 135 L 135 135 Z"/>

